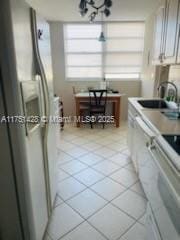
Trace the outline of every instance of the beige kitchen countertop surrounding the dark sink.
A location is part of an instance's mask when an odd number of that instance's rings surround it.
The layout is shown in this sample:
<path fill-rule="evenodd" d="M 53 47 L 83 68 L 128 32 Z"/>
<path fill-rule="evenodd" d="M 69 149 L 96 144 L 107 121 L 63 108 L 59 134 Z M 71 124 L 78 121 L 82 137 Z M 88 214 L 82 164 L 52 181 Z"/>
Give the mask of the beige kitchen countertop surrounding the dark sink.
<path fill-rule="evenodd" d="M 148 100 L 145 98 L 129 98 L 129 102 L 140 113 L 144 120 L 159 134 L 177 134 L 180 135 L 180 119 L 171 120 L 161 111 L 163 109 L 150 109 L 142 107 L 137 101 Z M 167 111 L 167 109 L 166 109 Z"/>

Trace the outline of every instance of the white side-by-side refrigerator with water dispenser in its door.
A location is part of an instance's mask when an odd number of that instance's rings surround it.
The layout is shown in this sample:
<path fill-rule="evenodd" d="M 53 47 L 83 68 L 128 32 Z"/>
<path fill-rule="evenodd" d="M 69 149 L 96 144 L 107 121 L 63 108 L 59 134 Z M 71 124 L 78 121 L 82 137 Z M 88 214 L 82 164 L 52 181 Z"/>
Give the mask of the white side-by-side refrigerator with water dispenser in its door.
<path fill-rule="evenodd" d="M 7 109 L 8 106 L 10 108 L 13 105 L 16 106 L 16 102 L 12 103 L 12 99 L 14 98 L 16 101 L 17 98 L 21 115 L 31 121 L 33 120 L 32 116 L 39 116 L 39 119 L 46 118 L 47 120 L 49 116 L 55 114 L 57 108 L 54 106 L 49 24 L 38 16 L 24 0 L 3 0 L 2 5 L 5 14 L 2 13 L 1 24 L 6 28 L 5 37 L 7 37 L 4 46 L 7 44 L 7 39 L 8 46 L 12 45 L 12 49 L 9 48 L 6 52 L 1 44 L 3 48 L 1 48 L 2 56 L 0 56 L 0 60 L 6 61 L 6 64 L 2 64 L 1 70 L 4 84 L 3 95 L 7 99 Z M 4 56 L 7 58 L 3 59 Z M 14 75 L 6 76 L 7 66 L 10 71 L 14 71 Z M 15 84 L 17 88 L 6 88 L 6 84 L 11 83 Z M 11 99 L 8 98 L 9 94 L 11 94 Z M 16 185 L 15 194 L 18 199 L 19 223 L 22 225 L 20 228 L 22 228 L 22 232 L 26 231 L 24 233 L 26 238 L 22 237 L 22 239 L 41 240 L 56 196 L 56 161 L 58 158 L 56 132 L 60 131 L 60 128 L 57 124 L 47 121 L 37 121 L 36 124 L 32 124 L 31 121 L 22 124 L 18 129 L 22 133 L 20 140 L 23 145 L 20 152 L 24 152 L 24 158 L 22 165 L 20 160 L 18 163 L 13 163 L 15 173 L 13 176 Z M 15 125 L 10 127 L 12 139 L 16 138 L 13 136 L 13 129 L 16 127 Z M 8 136 L 11 137 L 11 133 Z M 16 157 L 16 143 L 12 144 L 12 148 L 15 149 L 14 157 Z M 3 160 L 6 161 L 6 159 Z M 17 173 L 18 169 L 23 169 L 22 176 Z M 19 190 L 18 182 L 22 184 L 23 191 Z M 22 195 L 23 198 L 21 198 Z M 21 201 L 22 199 L 24 199 L 24 203 Z M 23 210 L 20 211 L 21 209 Z M 26 230 L 23 229 L 23 222 L 27 222 Z M 10 233 L 7 229 L 6 226 L 4 226 L 4 232 L 0 229 L 2 240 L 11 239 L 8 237 Z M 14 239 L 20 240 L 21 237 L 16 238 L 14 235 Z"/>

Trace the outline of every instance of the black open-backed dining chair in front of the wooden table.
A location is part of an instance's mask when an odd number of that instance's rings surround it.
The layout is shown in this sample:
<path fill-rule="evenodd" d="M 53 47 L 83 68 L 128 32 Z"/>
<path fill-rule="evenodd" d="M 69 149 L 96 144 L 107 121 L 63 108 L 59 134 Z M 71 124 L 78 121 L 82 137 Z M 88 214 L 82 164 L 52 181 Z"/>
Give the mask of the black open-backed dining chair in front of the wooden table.
<path fill-rule="evenodd" d="M 93 89 L 89 90 L 89 115 L 91 117 L 90 125 L 93 128 L 92 117 L 102 120 L 103 128 L 105 119 L 102 118 L 106 114 L 107 90 Z M 101 118 L 99 117 L 101 116 Z M 99 122 L 99 121 L 98 121 Z"/>

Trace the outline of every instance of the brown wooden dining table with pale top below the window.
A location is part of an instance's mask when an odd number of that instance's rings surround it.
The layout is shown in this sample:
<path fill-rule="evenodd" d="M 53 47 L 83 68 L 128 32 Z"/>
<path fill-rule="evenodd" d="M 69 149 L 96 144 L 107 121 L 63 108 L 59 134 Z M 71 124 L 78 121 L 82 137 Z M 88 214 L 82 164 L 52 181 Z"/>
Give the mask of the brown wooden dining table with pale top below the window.
<path fill-rule="evenodd" d="M 115 120 L 115 126 L 118 128 L 120 126 L 120 107 L 121 107 L 121 97 L 124 94 L 120 93 L 108 93 L 107 103 L 112 103 L 112 115 Z M 84 102 L 89 102 L 89 93 L 81 92 L 75 94 L 76 101 L 76 116 L 80 116 L 80 104 Z M 80 121 L 76 122 L 77 127 L 80 127 Z"/>

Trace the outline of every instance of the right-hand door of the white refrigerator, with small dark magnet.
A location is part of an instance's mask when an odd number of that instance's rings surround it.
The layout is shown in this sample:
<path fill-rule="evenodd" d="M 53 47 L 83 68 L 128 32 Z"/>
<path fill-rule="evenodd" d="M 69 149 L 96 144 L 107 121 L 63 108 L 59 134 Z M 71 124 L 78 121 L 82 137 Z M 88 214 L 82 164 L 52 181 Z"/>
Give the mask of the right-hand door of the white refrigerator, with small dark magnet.
<path fill-rule="evenodd" d="M 40 75 L 42 86 L 44 87 L 45 115 L 46 117 L 54 116 L 54 93 L 53 77 L 51 64 L 51 46 L 49 24 L 35 11 L 31 9 L 33 41 L 35 52 L 36 73 Z M 43 126 L 43 151 L 44 166 L 46 177 L 46 190 L 48 199 L 49 215 L 52 212 L 52 206 L 56 195 L 56 139 L 55 125 L 46 123 Z"/>

